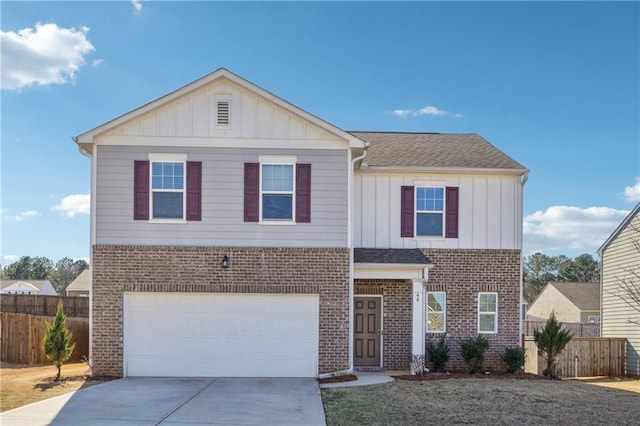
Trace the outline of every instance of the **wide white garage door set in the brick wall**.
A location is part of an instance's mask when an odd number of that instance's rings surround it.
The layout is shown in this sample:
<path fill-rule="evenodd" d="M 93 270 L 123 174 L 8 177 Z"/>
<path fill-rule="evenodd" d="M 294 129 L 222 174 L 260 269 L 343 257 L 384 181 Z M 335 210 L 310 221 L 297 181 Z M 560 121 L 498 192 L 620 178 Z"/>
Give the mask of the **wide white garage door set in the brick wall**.
<path fill-rule="evenodd" d="M 126 376 L 316 377 L 318 295 L 125 293 Z"/>

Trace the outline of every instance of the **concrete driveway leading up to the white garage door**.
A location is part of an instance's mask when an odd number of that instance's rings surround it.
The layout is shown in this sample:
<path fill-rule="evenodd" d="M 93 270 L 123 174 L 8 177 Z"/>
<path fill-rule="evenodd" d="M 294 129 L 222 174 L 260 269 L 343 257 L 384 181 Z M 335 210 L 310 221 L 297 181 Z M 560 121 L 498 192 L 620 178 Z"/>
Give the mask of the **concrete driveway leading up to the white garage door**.
<path fill-rule="evenodd" d="M 318 382 L 125 378 L 0 414 L 10 425 L 326 425 Z"/>

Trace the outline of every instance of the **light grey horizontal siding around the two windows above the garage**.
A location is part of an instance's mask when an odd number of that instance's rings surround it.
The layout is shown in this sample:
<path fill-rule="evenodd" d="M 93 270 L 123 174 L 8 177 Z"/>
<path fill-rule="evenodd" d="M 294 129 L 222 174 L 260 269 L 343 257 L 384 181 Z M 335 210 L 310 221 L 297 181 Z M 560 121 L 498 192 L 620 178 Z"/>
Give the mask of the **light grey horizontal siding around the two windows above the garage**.
<path fill-rule="evenodd" d="M 134 160 L 149 153 L 187 154 L 202 162 L 202 220 L 150 223 L 133 219 Z M 96 244 L 242 247 L 346 247 L 346 150 L 97 147 Z M 259 224 L 243 220 L 244 163 L 259 155 L 296 155 L 312 165 L 311 223 Z"/>

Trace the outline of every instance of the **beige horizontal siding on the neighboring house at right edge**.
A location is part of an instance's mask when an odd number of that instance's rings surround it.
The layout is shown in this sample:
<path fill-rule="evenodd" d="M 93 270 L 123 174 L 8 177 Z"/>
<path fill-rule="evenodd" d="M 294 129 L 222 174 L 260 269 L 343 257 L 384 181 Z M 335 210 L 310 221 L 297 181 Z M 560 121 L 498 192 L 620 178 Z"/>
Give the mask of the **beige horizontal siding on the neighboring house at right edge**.
<path fill-rule="evenodd" d="M 640 312 L 617 294 L 620 280 L 633 279 L 632 270 L 640 270 L 640 252 L 634 240 L 640 241 L 640 214 L 611 241 L 602 253 L 602 337 L 626 337 L 627 373 L 640 375 Z M 635 321 L 632 323 L 630 321 Z"/>

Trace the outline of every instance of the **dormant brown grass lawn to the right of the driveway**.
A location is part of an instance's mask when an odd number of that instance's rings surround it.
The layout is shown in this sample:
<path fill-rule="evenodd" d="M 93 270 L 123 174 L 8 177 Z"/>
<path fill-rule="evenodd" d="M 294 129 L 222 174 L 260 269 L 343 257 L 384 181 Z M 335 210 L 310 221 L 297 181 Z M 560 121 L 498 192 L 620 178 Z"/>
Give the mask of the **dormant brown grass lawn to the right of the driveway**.
<path fill-rule="evenodd" d="M 322 390 L 327 425 L 637 425 L 640 394 L 570 380 L 464 378 Z"/>

